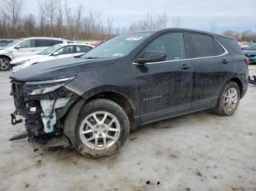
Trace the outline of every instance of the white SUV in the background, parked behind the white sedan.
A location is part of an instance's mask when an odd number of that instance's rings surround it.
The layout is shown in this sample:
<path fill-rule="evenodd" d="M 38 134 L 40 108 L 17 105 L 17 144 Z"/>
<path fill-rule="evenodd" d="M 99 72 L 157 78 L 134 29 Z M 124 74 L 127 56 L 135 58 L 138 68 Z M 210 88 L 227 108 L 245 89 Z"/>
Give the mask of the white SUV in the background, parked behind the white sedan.
<path fill-rule="evenodd" d="M 48 38 L 48 37 L 30 37 L 26 39 L 18 39 L 0 49 L 0 71 L 10 69 L 10 61 L 14 58 L 25 55 L 36 55 L 45 48 L 54 44 L 67 44 L 66 39 Z"/>

